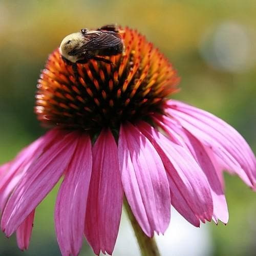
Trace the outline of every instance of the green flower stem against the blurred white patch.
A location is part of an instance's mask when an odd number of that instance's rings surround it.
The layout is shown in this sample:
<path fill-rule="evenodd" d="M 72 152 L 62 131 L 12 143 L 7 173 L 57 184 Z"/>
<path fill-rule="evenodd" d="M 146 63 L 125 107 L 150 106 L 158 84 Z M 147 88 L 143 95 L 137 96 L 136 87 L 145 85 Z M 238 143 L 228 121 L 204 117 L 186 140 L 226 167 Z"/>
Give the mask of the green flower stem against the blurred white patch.
<path fill-rule="evenodd" d="M 126 198 L 124 198 L 123 204 L 127 215 L 132 223 L 133 230 L 140 247 L 141 256 L 160 256 L 155 239 L 147 237 L 146 234 L 142 231 L 133 215 L 133 212 Z"/>

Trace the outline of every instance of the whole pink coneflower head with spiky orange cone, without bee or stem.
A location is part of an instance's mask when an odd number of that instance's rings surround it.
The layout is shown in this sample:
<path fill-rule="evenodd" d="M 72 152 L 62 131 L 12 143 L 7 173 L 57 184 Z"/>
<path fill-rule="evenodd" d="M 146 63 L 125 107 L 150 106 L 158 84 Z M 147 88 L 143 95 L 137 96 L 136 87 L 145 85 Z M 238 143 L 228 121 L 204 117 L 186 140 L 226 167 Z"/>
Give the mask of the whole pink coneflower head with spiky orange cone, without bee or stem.
<path fill-rule="evenodd" d="M 63 176 L 55 229 L 63 255 L 83 234 L 95 254 L 113 252 L 123 194 L 146 236 L 164 233 L 170 205 L 191 224 L 228 221 L 222 170 L 251 188 L 256 160 L 242 136 L 194 106 L 169 99 L 179 78 L 137 31 L 122 32 L 113 65 L 77 64 L 58 50 L 38 82 L 35 112 L 51 129 L 0 167 L 1 228 L 27 249 L 35 208 Z"/>

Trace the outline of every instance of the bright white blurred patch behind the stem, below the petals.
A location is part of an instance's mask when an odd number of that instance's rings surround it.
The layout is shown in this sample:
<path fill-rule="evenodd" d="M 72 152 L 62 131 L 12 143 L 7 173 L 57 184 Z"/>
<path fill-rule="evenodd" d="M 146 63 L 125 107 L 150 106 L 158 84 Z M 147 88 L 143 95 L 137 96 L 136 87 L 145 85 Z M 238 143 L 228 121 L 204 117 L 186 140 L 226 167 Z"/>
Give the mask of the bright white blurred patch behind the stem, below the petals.
<path fill-rule="evenodd" d="M 128 221 L 122 211 L 121 226 L 113 256 L 139 256 L 139 247 Z M 210 256 L 212 241 L 207 225 L 196 228 L 189 224 L 174 208 L 170 225 L 163 236 L 155 236 L 161 256 Z"/>

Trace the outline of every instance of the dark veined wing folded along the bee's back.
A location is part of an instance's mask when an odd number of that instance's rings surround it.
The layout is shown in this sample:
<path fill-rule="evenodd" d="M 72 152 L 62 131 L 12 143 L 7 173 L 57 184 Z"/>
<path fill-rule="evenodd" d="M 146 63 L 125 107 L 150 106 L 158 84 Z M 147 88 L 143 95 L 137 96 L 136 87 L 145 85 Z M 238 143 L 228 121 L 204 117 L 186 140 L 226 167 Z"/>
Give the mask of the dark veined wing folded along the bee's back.
<path fill-rule="evenodd" d="M 102 33 L 99 36 L 89 40 L 79 49 L 74 51 L 74 54 L 80 54 L 86 51 L 103 50 L 120 44 L 121 36 L 118 33 Z"/>

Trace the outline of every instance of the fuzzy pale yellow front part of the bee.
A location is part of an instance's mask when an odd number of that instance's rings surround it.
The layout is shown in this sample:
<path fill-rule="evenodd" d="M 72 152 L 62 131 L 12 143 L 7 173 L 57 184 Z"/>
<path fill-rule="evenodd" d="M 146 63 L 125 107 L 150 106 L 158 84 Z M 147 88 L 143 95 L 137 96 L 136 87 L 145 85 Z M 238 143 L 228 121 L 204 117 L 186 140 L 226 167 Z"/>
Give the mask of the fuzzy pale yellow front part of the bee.
<path fill-rule="evenodd" d="M 70 35 L 67 35 L 60 43 L 59 52 L 66 59 L 71 62 L 77 61 L 77 56 L 73 54 L 74 50 L 79 48 L 82 45 L 82 33 L 77 32 Z"/>

